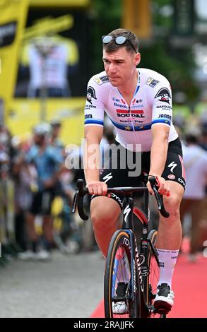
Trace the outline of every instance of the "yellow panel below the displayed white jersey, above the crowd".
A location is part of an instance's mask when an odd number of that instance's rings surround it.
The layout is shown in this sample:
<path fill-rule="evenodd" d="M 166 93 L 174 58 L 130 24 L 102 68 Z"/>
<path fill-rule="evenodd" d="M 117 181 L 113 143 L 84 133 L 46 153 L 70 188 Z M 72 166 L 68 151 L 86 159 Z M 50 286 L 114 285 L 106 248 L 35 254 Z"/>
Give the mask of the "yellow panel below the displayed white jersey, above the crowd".
<path fill-rule="evenodd" d="M 45 121 L 61 121 L 61 140 L 68 144 L 81 144 L 83 138 L 85 97 L 49 98 Z M 41 122 L 41 100 L 16 98 L 11 100 L 7 117 L 8 129 L 12 136 L 27 138 L 32 127 Z"/>

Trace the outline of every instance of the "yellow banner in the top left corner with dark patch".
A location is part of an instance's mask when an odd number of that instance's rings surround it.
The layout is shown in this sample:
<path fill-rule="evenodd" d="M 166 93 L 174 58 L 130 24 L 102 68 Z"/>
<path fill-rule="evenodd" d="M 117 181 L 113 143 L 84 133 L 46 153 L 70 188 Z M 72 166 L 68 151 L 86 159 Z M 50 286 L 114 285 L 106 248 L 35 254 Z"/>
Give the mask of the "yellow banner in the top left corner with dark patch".
<path fill-rule="evenodd" d="M 13 97 L 18 52 L 28 13 L 28 0 L 0 0 L 0 100 L 4 112 Z"/>

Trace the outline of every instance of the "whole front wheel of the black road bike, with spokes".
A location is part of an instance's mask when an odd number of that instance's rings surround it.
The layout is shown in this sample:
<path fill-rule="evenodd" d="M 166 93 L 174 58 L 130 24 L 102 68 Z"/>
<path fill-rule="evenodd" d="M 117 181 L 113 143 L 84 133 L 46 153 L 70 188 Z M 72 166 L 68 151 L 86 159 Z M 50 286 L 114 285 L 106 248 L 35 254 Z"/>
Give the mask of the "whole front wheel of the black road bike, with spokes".
<path fill-rule="evenodd" d="M 140 317 L 140 287 L 136 256 L 129 232 L 117 230 L 110 242 L 105 266 L 105 317 Z M 133 257 L 134 256 L 134 257 Z"/>

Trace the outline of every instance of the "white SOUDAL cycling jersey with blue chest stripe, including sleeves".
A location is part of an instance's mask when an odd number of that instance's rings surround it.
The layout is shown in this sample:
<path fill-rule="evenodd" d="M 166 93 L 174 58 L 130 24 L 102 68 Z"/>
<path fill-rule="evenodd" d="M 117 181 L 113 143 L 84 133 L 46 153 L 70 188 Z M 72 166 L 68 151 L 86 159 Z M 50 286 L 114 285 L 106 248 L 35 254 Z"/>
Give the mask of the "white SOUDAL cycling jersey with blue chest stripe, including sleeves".
<path fill-rule="evenodd" d="M 104 112 L 117 132 L 116 141 L 129 150 L 151 150 L 155 124 L 170 126 L 168 141 L 178 135 L 172 124 L 172 94 L 167 78 L 156 71 L 139 68 L 138 82 L 131 104 L 127 105 L 118 88 L 102 71 L 90 78 L 85 102 L 85 126 L 103 126 Z"/>

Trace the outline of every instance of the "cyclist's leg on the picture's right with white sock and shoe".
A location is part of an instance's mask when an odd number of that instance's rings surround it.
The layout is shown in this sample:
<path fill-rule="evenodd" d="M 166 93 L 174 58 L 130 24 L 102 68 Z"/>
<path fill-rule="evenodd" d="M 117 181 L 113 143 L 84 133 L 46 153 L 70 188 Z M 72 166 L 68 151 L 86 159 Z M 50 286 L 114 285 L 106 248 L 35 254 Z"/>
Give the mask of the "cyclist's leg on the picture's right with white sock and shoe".
<path fill-rule="evenodd" d="M 170 309 L 174 298 L 171 291 L 172 275 L 182 242 L 179 206 L 182 201 L 184 189 L 177 182 L 167 181 L 167 184 L 170 187 L 170 197 L 164 196 L 163 201 L 165 209 L 170 213 L 170 217 L 164 218 L 160 215 L 156 241 L 156 249 L 160 262 L 160 279 L 155 303 L 156 307 L 162 307 L 163 303 L 165 304 L 166 302 L 167 309 Z"/>

